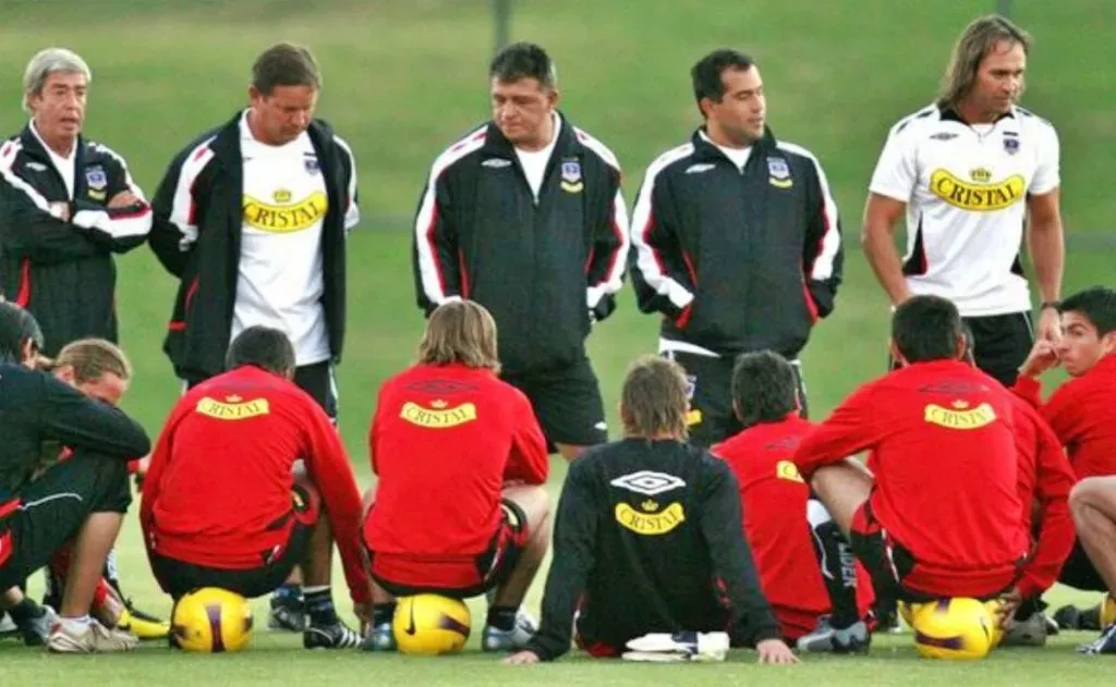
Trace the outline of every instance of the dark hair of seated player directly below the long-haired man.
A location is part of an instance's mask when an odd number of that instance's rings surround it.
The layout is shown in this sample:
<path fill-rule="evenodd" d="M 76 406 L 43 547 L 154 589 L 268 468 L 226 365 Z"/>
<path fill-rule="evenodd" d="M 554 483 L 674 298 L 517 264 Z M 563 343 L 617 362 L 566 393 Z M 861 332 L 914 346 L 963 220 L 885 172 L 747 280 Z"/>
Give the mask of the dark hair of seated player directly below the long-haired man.
<path fill-rule="evenodd" d="M 907 362 L 949 360 L 958 357 L 958 340 L 964 336 L 961 313 L 940 296 L 915 296 L 895 309 L 892 340 Z"/>

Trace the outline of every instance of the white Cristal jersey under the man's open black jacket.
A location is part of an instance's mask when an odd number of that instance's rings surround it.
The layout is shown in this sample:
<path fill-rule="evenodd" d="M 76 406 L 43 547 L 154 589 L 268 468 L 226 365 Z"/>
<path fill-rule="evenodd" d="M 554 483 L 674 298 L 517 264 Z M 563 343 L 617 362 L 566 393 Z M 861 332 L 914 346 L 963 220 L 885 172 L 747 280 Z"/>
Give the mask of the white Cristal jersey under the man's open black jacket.
<path fill-rule="evenodd" d="M 321 306 L 326 182 L 306 133 L 282 146 L 260 143 L 240 120 L 243 229 L 232 336 L 264 325 L 287 332 L 298 365 L 330 357 Z"/>

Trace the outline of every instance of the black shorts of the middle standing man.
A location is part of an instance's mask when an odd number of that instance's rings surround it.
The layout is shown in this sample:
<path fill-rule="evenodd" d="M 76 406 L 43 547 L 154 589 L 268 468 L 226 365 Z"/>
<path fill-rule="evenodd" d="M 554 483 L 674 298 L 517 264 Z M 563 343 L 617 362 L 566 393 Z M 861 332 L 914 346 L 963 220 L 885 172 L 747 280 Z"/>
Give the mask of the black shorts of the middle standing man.
<path fill-rule="evenodd" d="M 593 446 L 608 441 L 600 385 L 588 358 L 552 370 L 506 374 L 527 395 L 551 453 L 557 444 Z"/>

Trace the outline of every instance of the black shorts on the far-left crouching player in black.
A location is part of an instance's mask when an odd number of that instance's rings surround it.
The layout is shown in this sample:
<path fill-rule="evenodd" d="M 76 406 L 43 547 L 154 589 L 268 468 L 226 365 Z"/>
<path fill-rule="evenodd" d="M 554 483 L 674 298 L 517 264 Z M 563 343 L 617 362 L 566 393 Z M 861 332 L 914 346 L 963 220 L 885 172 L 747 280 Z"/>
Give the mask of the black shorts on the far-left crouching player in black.
<path fill-rule="evenodd" d="M 0 504 L 0 590 L 45 567 L 93 513 L 126 513 L 127 464 L 76 452 Z"/>

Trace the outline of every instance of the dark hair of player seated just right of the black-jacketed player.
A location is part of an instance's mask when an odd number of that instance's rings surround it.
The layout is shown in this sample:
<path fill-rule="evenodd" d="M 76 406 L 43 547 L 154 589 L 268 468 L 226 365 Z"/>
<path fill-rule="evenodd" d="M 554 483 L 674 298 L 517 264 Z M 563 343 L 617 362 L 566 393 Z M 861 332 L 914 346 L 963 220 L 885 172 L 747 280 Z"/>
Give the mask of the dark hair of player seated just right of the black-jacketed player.
<path fill-rule="evenodd" d="M 798 409 L 795 368 L 770 350 L 744 354 L 732 368 L 732 399 L 745 428 L 778 422 Z"/>

